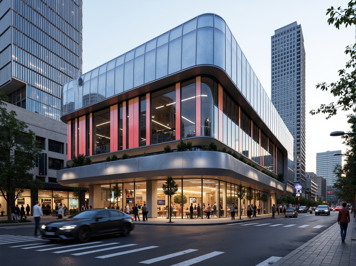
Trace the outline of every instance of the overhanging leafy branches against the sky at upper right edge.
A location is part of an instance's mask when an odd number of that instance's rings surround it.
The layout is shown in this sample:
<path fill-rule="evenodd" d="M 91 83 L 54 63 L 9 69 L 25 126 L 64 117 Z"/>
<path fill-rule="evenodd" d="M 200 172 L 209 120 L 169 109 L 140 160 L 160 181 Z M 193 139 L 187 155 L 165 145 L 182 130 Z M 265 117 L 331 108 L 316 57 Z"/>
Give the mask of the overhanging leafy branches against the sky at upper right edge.
<path fill-rule="evenodd" d="M 338 7 L 335 9 L 333 6 L 329 8 L 326 15 L 330 15 L 328 18 L 328 24 L 334 24 L 334 26 L 339 29 L 340 25 L 355 25 L 355 6 L 356 1 L 352 0 L 348 3 L 347 9 L 341 9 Z M 346 62 L 345 68 L 340 69 L 339 76 L 340 79 L 330 84 L 325 82 L 316 85 L 316 89 L 321 89 L 322 91 L 329 90 L 334 97 L 339 97 L 335 102 L 331 102 L 328 105 L 322 104 L 317 110 L 310 111 L 310 114 L 315 115 L 317 113 L 327 114 L 326 119 L 331 116 L 336 115 L 337 110 L 349 111 L 352 109 L 356 111 L 356 44 L 352 46 L 347 46 L 345 54 L 350 55 L 350 60 Z M 347 73 L 347 70 L 352 70 Z M 341 107 L 341 108 L 340 108 Z"/>

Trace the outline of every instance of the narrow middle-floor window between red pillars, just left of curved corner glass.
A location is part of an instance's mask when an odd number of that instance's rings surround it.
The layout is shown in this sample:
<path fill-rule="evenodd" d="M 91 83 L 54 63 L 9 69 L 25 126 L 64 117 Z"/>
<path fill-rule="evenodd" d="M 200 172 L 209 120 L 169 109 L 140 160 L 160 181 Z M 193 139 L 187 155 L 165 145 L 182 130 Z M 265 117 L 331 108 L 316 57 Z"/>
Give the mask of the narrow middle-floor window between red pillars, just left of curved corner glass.
<path fill-rule="evenodd" d="M 195 136 L 195 79 L 181 83 L 182 138 Z"/>

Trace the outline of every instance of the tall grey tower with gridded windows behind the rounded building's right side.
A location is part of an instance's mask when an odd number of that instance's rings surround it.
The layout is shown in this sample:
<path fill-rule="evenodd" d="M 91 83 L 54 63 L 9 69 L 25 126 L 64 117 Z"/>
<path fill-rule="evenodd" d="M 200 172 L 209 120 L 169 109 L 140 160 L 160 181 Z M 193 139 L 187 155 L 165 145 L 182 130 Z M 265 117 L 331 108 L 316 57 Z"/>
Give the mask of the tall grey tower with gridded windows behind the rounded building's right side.
<path fill-rule="evenodd" d="M 294 183 L 305 196 L 305 51 L 295 21 L 271 36 L 271 99 L 294 137 Z"/>

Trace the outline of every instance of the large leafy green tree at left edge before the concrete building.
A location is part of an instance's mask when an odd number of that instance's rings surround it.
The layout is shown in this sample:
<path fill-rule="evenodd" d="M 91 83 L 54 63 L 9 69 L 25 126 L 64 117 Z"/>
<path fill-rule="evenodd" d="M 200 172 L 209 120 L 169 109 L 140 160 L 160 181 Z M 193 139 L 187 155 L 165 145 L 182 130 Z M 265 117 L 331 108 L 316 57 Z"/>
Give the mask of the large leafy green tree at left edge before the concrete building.
<path fill-rule="evenodd" d="M 6 95 L 0 90 L 0 192 L 7 203 L 7 219 L 12 220 L 11 210 L 17 197 L 26 188 L 43 190 L 43 183 L 33 179 L 29 171 L 35 167 L 41 149 L 36 135 L 28 130 L 25 122 L 16 118 L 15 111 L 7 112 Z"/>

